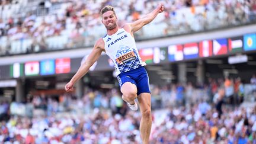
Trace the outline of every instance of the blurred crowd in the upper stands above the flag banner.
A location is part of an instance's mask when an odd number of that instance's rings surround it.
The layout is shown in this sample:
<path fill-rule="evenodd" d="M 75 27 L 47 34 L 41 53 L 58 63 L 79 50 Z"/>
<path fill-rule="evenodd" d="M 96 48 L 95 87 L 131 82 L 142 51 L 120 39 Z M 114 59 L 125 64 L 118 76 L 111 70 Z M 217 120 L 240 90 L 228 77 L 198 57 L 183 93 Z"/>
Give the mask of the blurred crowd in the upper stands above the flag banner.
<path fill-rule="evenodd" d="M 212 30 L 256 20 L 256 2 L 253 0 L 60 0 L 40 2 L 30 11 L 27 10 L 30 9 L 29 3 L 6 0 L 1 1 L 0 6 L 0 41 L 3 43 L 0 55 L 91 46 L 95 39 L 105 34 L 100 15 L 104 5 L 115 7 L 121 26 L 144 17 L 159 2 L 165 5 L 166 11 L 136 33 L 137 40 Z M 27 7 L 25 11 L 24 7 Z"/>

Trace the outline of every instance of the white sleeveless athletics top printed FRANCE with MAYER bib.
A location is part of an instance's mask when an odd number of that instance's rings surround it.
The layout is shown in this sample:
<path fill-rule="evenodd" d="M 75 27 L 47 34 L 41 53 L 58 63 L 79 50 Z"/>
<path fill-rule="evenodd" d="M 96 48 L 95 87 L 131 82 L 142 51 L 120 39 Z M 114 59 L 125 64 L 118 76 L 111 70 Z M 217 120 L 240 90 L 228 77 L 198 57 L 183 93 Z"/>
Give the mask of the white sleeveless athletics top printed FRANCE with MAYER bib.
<path fill-rule="evenodd" d="M 136 47 L 135 39 L 124 28 L 111 35 L 104 36 L 105 53 L 114 63 L 117 75 L 145 66 Z"/>

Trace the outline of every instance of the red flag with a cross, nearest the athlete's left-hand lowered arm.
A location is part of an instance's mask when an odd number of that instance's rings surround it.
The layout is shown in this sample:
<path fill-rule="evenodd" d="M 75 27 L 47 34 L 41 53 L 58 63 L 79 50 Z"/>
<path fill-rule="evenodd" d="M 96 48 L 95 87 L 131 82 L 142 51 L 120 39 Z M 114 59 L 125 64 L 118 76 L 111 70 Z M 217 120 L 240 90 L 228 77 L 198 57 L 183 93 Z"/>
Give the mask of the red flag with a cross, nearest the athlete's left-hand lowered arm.
<path fill-rule="evenodd" d="M 71 59 L 62 58 L 55 60 L 55 71 L 56 73 L 69 73 L 71 71 Z"/>

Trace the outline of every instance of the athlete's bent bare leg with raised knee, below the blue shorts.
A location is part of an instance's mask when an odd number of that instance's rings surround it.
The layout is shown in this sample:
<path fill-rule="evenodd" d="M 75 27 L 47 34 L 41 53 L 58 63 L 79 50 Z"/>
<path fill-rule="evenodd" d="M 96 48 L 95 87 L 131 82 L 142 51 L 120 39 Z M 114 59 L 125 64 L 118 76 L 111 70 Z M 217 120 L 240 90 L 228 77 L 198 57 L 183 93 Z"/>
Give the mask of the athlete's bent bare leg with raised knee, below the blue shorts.
<path fill-rule="evenodd" d="M 137 98 L 137 87 L 131 82 L 125 82 L 121 86 L 121 93 L 123 94 L 122 98 L 127 103 L 133 105 L 135 104 L 135 99 Z"/>

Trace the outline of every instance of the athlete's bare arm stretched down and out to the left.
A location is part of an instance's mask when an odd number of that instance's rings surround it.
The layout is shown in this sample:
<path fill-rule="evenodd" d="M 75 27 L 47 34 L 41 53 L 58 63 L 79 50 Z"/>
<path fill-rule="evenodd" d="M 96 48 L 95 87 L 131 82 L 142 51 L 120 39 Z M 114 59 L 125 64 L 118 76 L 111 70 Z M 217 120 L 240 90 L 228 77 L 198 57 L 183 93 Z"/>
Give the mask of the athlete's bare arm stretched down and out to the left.
<path fill-rule="evenodd" d="M 98 60 L 98 58 L 101 56 L 101 53 L 104 51 L 104 41 L 103 39 L 99 39 L 94 44 L 94 48 L 92 49 L 92 52 L 89 54 L 87 60 L 80 66 L 78 71 L 75 73 L 71 81 L 66 84 L 66 91 L 73 91 L 73 85 L 82 78 L 88 71 L 89 68 Z"/>

